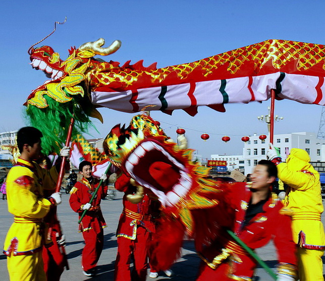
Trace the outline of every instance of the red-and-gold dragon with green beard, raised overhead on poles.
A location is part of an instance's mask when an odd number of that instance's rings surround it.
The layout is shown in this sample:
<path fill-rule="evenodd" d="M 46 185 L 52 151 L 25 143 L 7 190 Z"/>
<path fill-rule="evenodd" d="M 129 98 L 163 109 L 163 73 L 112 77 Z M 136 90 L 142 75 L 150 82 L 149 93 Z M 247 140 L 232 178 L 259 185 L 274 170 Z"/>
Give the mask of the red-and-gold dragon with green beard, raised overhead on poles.
<path fill-rule="evenodd" d="M 225 103 L 267 100 L 271 89 L 278 99 L 325 104 L 323 45 L 266 40 L 193 63 L 156 69 L 155 64 L 143 67 L 142 61 L 120 66 L 95 59 L 96 54 L 107 55 L 120 46 L 115 41 L 109 51 L 101 51 L 103 44 L 98 39 L 71 48 L 65 61 L 48 46 L 32 48 L 31 65 L 51 80 L 35 89 L 25 105 L 33 126 L 39 128 L 50 120 L 40 128 L 49 139 L 63 141 L 73 114 L 79 131 L 86 131 L 89 116 L 101 120 L 96 107 L 128 113 L 146 108 L 168 114 L 183 109 L 194 116 L 201 105 L 225 111 Z M 53 149 L 50 144 L 43 146 Z"/>

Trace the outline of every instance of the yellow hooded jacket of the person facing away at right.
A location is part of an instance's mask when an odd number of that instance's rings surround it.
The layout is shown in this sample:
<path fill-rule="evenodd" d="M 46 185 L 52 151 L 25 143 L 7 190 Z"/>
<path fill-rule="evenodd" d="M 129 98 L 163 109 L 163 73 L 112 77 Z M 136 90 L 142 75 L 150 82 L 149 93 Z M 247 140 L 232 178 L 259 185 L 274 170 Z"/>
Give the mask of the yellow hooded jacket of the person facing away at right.
<path fill-rule="evenodd" d="M 289 186 L 284 199 L 293 211 L 293 240 L 303 248 L 325 249 L 325 234 L 320 215 L 323 212 L 319 174 L 309 163 L 305 150 L 292 148 L 286 162 L 277 165 L 278 177 Z"/>

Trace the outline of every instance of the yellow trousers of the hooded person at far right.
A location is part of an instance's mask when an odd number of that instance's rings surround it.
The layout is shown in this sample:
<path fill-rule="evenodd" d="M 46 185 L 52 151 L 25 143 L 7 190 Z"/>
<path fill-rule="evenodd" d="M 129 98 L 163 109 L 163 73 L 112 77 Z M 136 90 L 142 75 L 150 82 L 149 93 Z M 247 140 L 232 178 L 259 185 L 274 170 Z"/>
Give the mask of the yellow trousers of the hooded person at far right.
<path fill-rule="evenodd" d="M 308 250 L 298 247 L 298 274 L 300 281 L 323 281 L 324 251 Z"/>

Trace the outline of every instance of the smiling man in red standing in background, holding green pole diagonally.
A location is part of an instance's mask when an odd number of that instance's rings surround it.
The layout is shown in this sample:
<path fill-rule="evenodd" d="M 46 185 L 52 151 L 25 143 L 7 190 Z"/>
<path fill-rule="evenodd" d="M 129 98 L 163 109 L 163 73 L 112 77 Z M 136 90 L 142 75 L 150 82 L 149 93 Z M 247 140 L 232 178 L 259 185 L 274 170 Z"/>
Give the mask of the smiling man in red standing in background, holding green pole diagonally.
<path fill-rule="evenodd" d="M 82 161 L 79 164 L 79 171 L 83 177 L 70 191 L 69 203 L 71 208 L 79 214 L 79 218 L 84 210 L 88 210 L 79 226 L 79 231 L 82 232 L 86 244 L 82 251 L 81 263 L 83 274 L 94 276 L 104 243 L 103 229 L 107 227 L 100 209 L 100 201 L 107 194 L 107 186 L 104 185 L 99 188 L 90 205 L 89 201 L 99 184 L 99 180 L 92 177 L 92 165 L 88 161 Z"/>

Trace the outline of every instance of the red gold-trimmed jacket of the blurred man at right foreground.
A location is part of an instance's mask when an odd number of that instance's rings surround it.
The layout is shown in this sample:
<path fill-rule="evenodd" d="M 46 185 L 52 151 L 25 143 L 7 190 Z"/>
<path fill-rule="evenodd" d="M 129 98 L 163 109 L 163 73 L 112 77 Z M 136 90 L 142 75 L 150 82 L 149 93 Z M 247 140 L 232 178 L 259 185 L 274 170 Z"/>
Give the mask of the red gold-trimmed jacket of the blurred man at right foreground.
<path fill-rule="evenodd" d="M 283 203 L 274 193 L 263 205 L 263 211 L 256 214 L 245 227 L 243 222 L 248 203 L 251 199 L 249 183 L 235 183 L 229 186 L 227 200 L 231 209 L 235 209 L 235 224 L 231 227 L 234 233 L 251 249 L 265 246 L 273 239 L 279 263 L 297 264 L 296 245 L 292 239 L 291 217 L 283 210 Z M 218 237 L 211 247 L 203 251 L 203 255 L 209 260 L 218 255 L 221 248 L 227 248 L 230 237 L 225 232 Z M 229 245 L 229 244 L 228 244 Z"/>

